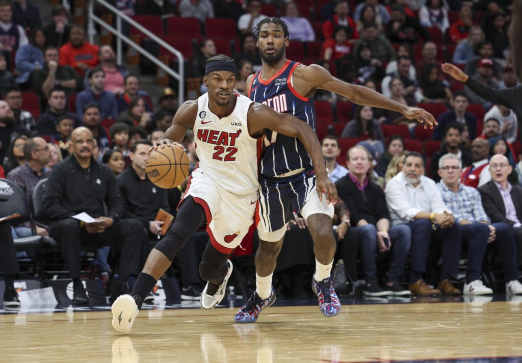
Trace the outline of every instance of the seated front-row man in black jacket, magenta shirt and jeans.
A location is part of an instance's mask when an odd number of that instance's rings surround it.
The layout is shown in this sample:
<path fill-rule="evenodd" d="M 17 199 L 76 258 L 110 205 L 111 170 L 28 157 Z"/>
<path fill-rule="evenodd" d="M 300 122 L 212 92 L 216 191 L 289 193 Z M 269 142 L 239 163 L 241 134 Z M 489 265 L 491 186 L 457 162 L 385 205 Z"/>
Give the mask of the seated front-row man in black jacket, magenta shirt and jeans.
<path fill-rule="evenodd" d="M 347 160 L 350 173 L 335 185 L 339 197 L 350 210 L 352 229 L 359 234 L 365 280 L 363 295 L 409 296 L 410 291 L 400 285 L 400 276 L 410 251 L 411 230 L 404 224 L 390 227 L 384 191 L 366 177 L 370 168 L 370 154 L 366 148 L 352 147 L 348 150 Z M 377 245 L 379 251 L 390 253 L 386 290 L 377 284 Z"/>

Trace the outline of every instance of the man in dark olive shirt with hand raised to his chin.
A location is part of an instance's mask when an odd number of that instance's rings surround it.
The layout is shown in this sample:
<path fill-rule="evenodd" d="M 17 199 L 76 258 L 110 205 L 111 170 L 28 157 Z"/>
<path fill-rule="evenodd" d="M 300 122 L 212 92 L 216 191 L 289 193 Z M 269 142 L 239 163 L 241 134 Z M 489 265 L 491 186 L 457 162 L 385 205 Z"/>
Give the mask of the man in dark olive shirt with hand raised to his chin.
<path fill-rule="evenodd" d="M 55 88 L 62 88 L 66 96 L 82 89 L 83 85 L 79 74 L 69 66 L 58 64 L 60 58 L 55 46 L 48 46 L 43 53 L 45 65 L 42 69 L 34 69 L 29 76 L 29 84 L 34 87 L 40 98 L 49 97 L 49 92 Z"/>

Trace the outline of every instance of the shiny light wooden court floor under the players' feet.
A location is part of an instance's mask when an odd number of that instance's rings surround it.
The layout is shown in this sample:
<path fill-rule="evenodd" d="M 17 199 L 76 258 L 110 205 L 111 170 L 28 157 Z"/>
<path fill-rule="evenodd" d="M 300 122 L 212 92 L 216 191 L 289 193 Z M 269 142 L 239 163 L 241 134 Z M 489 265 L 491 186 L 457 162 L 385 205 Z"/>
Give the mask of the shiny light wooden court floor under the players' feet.
<path fill-rule="evenodd" d="M 522 360 L 522 301 L 344 305 L 335 318 L 317 306 L 274 306 L 255 324 L 234 324 L 236 310 L 142 310 L 127 335 L 113 330 L 110 311 L 0 315 L 0 360 Z"/>

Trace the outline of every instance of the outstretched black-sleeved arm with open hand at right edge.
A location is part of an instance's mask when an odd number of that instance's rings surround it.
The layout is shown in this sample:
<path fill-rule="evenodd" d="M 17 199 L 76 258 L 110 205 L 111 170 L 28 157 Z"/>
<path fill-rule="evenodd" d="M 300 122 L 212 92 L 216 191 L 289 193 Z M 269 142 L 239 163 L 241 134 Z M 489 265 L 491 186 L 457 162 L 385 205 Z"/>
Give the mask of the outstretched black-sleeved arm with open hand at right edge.
<path fill-rule="evenodd" d="M 515 68 L 520 67 L 519 64 L 514 66 Z M 470 90 L 477 93 L 484 100 L 512 109 L 517 116 L 518 127 L 522 128 L 522 102 L 520 102 L 522 99 L 522 84 L 504 89 L 495 89 L 484 86 L 477 79 L 469 77 L 453 64 L 444 63 L 442 70 L 456 80 L 466 84 Z"/>

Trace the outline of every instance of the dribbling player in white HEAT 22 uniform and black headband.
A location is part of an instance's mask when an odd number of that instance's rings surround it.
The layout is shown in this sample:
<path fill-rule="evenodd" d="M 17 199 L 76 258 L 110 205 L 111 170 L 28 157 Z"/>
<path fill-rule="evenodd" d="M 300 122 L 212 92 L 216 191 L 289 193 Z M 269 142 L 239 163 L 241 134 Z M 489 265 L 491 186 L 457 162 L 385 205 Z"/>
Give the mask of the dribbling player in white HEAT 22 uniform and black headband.
<path fill-rule="evenodd" d="M 223 299 L 232 273 L 229 256 L 254 222 L 258 144 L 265 128 L 298 138 L 312 158 L 319 198 L 324 191 L 337 200 L 312 128 L 292 115 L 234 93 L 235 75 L 231 58 L 210 58 L 203 78 L 208 92 L 196 101 L 186 101 L 165 132 L 167 140 L 161 147 L 181 142 L 188 128 L 193 128 L 200 162 L 189 179 L 173 227 L 150 252 L 132 294 L 118 297 L 112 305 L 112 325 L 120 332 L 131 330 L 144 298 L 199 228 L 206 228 L 211 242 L 199 265 L 201 278 L 208 281 L 201 308 L 212 309 Z"/>

